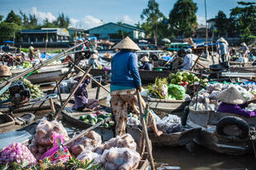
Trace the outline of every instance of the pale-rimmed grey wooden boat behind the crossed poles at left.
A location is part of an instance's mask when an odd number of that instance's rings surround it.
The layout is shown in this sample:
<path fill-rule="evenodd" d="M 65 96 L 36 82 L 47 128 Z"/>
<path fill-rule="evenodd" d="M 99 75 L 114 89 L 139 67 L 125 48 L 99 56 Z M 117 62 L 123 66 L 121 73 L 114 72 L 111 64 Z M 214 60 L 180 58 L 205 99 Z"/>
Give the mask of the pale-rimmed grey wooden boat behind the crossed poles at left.
<path fill-rule="evenodd" d="M 60 78 L 64 75 L 65 71 L 68 71 L 69 68 L 67 64 L 57 64 L 49 65 L 39 69 L 40 73 L 32 73 L 27 77 L 31 83 L 49 83 L 59 81 Z M 12 75 L 17 73 L 22 73 L 26 69 L 15 69 L 11 70 Z"/>

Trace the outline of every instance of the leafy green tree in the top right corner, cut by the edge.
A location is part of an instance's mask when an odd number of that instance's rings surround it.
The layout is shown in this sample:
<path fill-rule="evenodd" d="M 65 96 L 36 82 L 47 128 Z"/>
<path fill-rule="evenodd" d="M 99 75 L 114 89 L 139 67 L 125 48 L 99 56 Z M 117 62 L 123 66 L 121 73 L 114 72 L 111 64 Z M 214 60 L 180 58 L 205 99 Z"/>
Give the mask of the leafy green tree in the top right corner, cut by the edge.
<path fill-rule="evenodd" d="M 233 33 L 244 37 L 249 41 L 252 33 L 256 32 L 256 6 L 255 2 L 237 2 L 240 7 L 231 9 L 230 20 L 233 27 Z"/>

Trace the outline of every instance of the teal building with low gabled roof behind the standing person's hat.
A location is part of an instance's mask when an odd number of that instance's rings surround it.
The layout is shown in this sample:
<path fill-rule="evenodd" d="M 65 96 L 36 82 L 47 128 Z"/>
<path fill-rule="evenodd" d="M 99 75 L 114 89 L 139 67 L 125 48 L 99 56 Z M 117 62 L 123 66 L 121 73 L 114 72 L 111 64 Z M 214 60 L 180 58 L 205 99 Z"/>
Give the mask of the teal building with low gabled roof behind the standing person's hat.
<path fill-rule="evenodd" d="M 117 40 L 121 39 L 122 35 L 129 35 L 134 40 L 145 38 L 145 30 L 126 23 L 109 22 L 89 29 L 88 33 L 90 36 L 96 36 L 98 40 Z"/>

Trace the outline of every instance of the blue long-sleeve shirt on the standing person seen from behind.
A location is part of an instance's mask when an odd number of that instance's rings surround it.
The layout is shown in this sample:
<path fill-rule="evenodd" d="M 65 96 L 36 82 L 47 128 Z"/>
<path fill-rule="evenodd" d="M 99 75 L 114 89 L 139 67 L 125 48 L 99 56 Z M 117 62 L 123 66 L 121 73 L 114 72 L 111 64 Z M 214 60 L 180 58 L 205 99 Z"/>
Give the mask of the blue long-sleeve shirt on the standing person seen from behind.
<path fill-rule="evenodd" d="M 111 86 L 136 88 L 141 86 L 138 56 L 121 51 L 111 59 Z"/>

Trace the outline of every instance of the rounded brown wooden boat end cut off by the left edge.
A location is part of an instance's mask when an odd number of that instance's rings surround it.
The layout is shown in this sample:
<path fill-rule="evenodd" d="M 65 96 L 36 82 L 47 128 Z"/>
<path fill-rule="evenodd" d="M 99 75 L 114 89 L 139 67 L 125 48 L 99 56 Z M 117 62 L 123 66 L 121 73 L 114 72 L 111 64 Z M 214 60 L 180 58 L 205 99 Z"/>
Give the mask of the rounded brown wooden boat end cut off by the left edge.
<path fill-rule="evenodd" d="M 0 133 L 12 130 L 14 125 L 15 120 L 12 118 L 12 116 L 9 116 L 7 114 L 0 115 Z"/>

